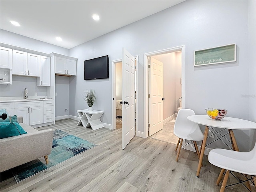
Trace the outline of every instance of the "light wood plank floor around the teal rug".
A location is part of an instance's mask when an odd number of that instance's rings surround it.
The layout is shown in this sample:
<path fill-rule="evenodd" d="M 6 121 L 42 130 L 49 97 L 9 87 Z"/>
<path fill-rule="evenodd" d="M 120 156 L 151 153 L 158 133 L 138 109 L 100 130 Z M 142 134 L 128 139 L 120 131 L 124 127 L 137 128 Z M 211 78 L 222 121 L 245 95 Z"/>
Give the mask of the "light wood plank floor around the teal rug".
<path fill-rule="evenodd" d="M 215 182 L 220 168 L 204 157 L 200 178 L 196 178 L 198 157 L 182 149 L 175 161 L 175 145 L 152 138 L 134 137 L 122 150 L 122 129 L 92 130 L 76 126 L 72 119 L 54 126 L 98 146 L 16 184 L 13 177 L 2 181 L 2 192 L 218 192 Z M 50 161 L 50 159 L 49 159 Z M 4 172 L 4 174 L 10 174 Z M 2 175 L 3 176 L 3 175 Z M 229 179 L 228 184 L 236 182 Z M 233 187 L 233 188 L 232 188 Z M 241 184 L 226 192 L 245 192 Z"/>

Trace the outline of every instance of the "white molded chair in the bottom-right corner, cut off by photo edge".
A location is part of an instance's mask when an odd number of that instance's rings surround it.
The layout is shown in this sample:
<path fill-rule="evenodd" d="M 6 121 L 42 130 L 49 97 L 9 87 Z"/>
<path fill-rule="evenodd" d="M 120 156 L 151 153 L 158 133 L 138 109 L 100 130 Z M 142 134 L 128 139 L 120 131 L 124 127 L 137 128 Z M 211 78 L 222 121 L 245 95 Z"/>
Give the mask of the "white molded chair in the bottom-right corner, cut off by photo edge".
<path fill-rule="evenodd" d="M 222 168 L 216 185 L 220 183 L 222 175 L 226 170 L 220 192 L 224 192 L 226 188 L 226 182 L 228 180 L 230 171 L 251 175 L 256 188 L 256 143 L 254 148 L 249 152 L 213 149 L 208 155 L 208 160 L 211 164 Z"/>

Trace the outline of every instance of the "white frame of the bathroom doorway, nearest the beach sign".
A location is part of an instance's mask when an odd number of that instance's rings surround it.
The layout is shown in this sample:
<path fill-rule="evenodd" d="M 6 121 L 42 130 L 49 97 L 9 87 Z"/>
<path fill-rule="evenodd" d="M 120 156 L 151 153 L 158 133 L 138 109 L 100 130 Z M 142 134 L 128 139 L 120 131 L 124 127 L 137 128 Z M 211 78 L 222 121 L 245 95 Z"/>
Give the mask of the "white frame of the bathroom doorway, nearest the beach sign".
<path fill-rule="evenodd" d="M 149 114 L 149 107 L 148 107 L 148 94 L 149 94 L 149 77 L 148 77 L 148 57 L 154 56 L 154 55 L 159 55 L 159 54 L 166 54 L 166 53 L 172 53 L 172 52 L 178 52 L 181 51 L 181 77 L 182 77 L 182 85 L 181 85 L 181 96 L 182 96 L 182 108 L 185 108 L 185 45 L 182 46 L 177 46 L 173 48 L 167 48 L 163 50 L 158 50 L 154 52 L 148 52 L 144 54 L 144 61 L 143 61 L 143 74 L 144 74 L 144 80 L 143 80 L 143 111 L 144 111 L 144 116 L 143 116 L 143 136 L 144 138 L 148 137 L 148 114 Z M 137 117 L 136 117 L 137 118 Z M 140 134 L 141 135 L 141 134 Z"/>

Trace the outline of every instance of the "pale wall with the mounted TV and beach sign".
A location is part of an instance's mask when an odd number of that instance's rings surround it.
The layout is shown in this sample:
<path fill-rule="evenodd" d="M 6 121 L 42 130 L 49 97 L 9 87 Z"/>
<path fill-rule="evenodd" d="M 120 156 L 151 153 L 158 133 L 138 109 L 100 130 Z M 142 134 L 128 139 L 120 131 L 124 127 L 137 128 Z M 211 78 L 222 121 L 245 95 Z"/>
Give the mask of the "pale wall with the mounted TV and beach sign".
<path fill-rule="evenodd" d="M 194 50 L 234 42 L 236 62 L 193 66 Z M 78 58 L 78 74 L 77 81 L 70 84 L 75 98 L 70 100 L 74 106 L 70 114 L 76 115 L 78 108 L 86 106 L 77 96 L 80 90 L 94 88 L 98 96 L 95 109 L 104 110 L 102 121 L 111 123 L 111 66 L 110 79 L 84 81 L 82 61 L 106 54 L 110 61 L 117 60 L 124 47 L 139 58 L 138 130 L 143 131 L 143 54 L 180 45 L 185 45 L 185 107 L 196 114 L 205 114 L 208 107 L 225 108 L 227 116 L 248 120 L 254 106 L 241 96 L 249 92 L 249 66 L 255 65 L 255 60 L 248 62 L 249 54 L 255 54 L 248 50 L 248 1 L 185 1 L 72 48 L 70 56 Z M 239 135 L 241 150 L 248 149 L 248 132 L 234 132 Z"/>

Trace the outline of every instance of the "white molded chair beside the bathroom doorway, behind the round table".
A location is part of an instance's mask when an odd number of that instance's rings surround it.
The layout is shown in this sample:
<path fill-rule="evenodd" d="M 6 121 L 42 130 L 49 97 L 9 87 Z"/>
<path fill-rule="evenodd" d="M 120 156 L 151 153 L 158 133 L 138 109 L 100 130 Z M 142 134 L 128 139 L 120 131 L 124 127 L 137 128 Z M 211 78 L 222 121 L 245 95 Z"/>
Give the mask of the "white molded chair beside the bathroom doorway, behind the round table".
<path fill-rule="evenodd" d="M 204 139 L 204 134 L 197 123 L 187 119 L 190 115 L 195 115 L 195 112 L 191 109 L 180 109 L 175 120 L 173 132 L 174 135 L 179 138 L 175 151 L 177 151 L 180 144 L 176 161 L 178 161 L 183 140 L 192 140 L 194 142 L 196 154 L 198 155 L 198 158 L 200 158 L 196 141 L 202 141 Z"/>

